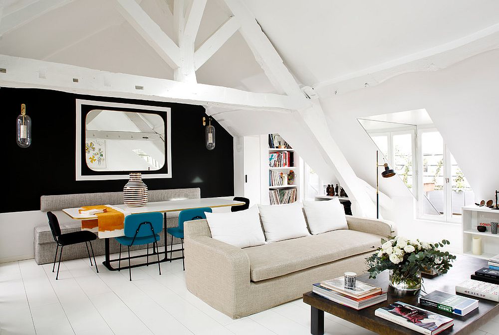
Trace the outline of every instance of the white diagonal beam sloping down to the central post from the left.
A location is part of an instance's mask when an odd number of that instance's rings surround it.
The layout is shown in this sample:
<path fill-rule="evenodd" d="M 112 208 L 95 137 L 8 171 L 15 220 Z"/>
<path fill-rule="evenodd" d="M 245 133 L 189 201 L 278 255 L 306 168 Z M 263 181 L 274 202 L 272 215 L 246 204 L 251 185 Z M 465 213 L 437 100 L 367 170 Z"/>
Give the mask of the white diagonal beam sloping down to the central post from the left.
<path fill-rule="evenodd" d="M 180 51 L 177 44 L 161 30 L 160 26 L 147 15 L 135 0 L 116 0 L 123 17 L 160 55 L 165 62 L 176 69 L 181 65 Z"/>

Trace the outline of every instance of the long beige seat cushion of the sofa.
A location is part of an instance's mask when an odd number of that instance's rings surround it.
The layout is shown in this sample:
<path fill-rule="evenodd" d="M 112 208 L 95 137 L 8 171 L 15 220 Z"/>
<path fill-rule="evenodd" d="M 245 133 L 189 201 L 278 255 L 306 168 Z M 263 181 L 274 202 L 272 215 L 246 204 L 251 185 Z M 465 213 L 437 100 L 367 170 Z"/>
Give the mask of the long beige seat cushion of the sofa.
<path fill-rule="evenodd" d="M 334 230 L 245 248 L 253 282 L 374 251 L 381 236 L 355 230 Z"/>

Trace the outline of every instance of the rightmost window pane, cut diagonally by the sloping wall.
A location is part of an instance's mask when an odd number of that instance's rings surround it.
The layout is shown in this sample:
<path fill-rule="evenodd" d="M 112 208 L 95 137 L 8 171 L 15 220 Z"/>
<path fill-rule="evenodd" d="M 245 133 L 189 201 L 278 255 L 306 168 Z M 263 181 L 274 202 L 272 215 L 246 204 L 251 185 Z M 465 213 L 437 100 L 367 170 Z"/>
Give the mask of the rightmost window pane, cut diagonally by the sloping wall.
<path fill-rule="evenodd" d="M 451 154 L 451 204 L 453 217 L 461 216 L 461 207 L 473 205 L 475 194 L 458 163 Z"/>

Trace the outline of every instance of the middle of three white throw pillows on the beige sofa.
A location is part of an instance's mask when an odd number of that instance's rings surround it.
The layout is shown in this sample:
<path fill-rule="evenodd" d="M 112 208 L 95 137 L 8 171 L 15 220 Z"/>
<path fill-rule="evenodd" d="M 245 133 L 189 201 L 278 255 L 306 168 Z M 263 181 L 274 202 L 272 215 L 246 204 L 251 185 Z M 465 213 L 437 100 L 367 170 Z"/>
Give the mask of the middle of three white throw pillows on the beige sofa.
<path fill-rule="evenodd" d="M 267 242 L 310 235 L 298 202 L 289 205 L 258 205 L 258 210 Z"/>

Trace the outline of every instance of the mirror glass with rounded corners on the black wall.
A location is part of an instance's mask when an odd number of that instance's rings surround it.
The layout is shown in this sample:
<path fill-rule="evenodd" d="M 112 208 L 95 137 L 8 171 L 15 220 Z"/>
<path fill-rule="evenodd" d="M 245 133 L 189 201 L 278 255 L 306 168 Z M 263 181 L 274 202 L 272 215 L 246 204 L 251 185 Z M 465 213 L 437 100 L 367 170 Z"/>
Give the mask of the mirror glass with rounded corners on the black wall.
<path fill-rule="evenodd" d="M 85 161 L 93 171 L 161 169 L 164 119 L 155 113 L 91 110 L 85 118 Z"/>

